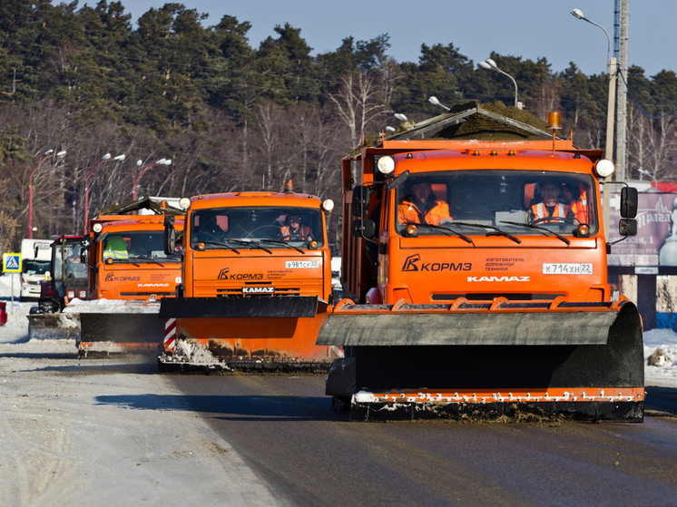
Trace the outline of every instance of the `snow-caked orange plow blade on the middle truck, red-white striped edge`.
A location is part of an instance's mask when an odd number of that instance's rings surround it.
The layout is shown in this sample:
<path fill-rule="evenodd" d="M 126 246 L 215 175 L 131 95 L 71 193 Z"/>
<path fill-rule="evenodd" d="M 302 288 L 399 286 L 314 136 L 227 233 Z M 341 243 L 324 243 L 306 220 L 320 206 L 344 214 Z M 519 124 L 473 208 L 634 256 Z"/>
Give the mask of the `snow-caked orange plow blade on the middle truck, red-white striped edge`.
<path fill-rule="evenodd" d="M 326 372 L 341 356 L 315 344 L 327 319 L 318 297 L 178 297 L 162 300 L 161 316 L 163 372 Z"/>

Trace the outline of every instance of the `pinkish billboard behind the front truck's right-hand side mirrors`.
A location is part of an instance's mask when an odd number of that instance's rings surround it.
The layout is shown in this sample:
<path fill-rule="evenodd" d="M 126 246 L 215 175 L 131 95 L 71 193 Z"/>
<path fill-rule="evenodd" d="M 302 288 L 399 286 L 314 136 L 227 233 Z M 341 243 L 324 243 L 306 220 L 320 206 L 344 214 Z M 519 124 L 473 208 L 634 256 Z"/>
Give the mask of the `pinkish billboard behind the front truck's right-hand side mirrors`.
<path fill-rule="evenodd" d="M 677 192 L 645 191 L 639 193 L 637 236 L 612 246 L 609 266 L 659 267 L 677 266 Z M 618 234 L 621 194 L 613 192 L 611 200 L 611 243 Z"/>

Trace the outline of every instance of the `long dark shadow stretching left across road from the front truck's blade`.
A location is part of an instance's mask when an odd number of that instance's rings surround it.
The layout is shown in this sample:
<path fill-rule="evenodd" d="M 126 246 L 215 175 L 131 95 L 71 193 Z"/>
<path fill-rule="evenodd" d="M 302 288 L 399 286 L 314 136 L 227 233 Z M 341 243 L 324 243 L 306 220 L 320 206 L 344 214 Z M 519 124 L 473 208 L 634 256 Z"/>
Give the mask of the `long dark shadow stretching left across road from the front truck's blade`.
<path fill-rule="evenodd" d="M 213 414 L 225 421 L 348 421 L 348 414 L 331 410 L 327 396 L 250 395 L 111 395 L 97 396 L 100 405 L 140 410 L 186 410 Z"/>

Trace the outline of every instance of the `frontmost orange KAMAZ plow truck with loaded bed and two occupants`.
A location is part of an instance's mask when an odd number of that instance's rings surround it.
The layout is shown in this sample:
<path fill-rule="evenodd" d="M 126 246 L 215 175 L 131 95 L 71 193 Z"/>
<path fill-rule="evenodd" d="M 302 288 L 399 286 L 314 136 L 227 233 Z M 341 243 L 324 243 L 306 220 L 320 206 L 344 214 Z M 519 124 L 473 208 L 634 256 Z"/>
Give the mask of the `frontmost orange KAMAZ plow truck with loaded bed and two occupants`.
<path fill-rule="evenodd" d="M 607 282 L 613 163 L 550 119 L 471 102 L 343 160 L 347 299 L 318 344 L 344 347 L 326 394 L 352 420 L 643 421 L 641 319 Z M 620 204 L 634 235 L 636 190 Z"/>

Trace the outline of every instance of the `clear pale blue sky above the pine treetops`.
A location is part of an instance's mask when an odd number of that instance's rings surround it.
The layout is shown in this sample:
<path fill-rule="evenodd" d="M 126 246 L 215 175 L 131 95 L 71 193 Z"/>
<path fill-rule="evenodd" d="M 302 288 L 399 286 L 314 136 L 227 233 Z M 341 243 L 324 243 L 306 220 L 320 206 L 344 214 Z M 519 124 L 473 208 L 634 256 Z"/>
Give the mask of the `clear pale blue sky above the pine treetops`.
<path fill-rule="evenodd" d="M 180 2 L 180 0 L 175 0 Z M 122 0 L 135 22 L 162 0 Z M 81 5 L 85 2 L 81 0 Z M 95 4 L 95 2 L 86 2 Z M 421 44 L 452 43 L 474 63 L 492 51 L 536 60 L 545 57 L 554 72 L 574 62 L 586 74 L 606 72 L 607 39 L 603 30 L 574 18 L 570 11 L 603 25 L 612 37 L 613 0 L 184 0 L 208 14 L 205 24 L 223 15 L 249 21 L 250 44 L 275 36 L 276 24 L 289 23 L 313 48 L 313 54 L 339 47 L 343 38 L 369 40 L 390 35 L 389 54 L 399 62 L 417 62 Z M 632 0 L 628 59 L 651 77 L 677 71 L 677 0 Z M 613 47 L 613 46 L 612 46 Z"/>

